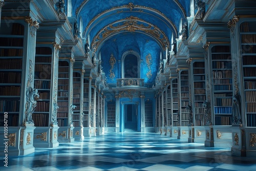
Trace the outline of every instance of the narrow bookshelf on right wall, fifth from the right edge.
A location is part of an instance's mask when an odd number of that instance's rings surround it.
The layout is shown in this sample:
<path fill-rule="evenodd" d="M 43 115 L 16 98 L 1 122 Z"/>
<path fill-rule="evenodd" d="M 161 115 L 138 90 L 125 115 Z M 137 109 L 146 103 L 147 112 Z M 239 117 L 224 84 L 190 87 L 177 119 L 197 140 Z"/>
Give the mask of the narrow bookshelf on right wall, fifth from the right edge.
<path fill-rule="evenodd" d="M 178 126 L 178 112 L 179 112 L 179 106 L 178 106 L 178 79 L 175 78 L 172 80 L 172 103 L 173 103 L 173 126 Z"/>

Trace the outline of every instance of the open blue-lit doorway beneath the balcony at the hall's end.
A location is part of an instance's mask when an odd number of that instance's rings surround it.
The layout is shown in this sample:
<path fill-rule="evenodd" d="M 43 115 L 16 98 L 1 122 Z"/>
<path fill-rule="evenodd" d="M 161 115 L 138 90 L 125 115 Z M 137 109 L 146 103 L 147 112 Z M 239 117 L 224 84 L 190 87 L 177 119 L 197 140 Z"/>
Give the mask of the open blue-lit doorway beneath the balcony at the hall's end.
<path fill-rule="evenodd" d="M 124 132 L 138 131 L 138 105 L 124 104 Z"/>

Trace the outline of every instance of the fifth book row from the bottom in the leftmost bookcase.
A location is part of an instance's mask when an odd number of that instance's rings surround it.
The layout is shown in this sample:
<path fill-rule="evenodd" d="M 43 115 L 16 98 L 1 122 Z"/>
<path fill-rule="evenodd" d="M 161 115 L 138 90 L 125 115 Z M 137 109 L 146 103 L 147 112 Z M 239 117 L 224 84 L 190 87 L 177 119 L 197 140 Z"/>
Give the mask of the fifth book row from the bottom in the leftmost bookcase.
<path fill-rule="evenodd" d="M 0 58 L 0 69 L 2 70 L 21 70 L 22 69 L 22 59 L 12 58 L 12 59 L 1 59 Z"/>

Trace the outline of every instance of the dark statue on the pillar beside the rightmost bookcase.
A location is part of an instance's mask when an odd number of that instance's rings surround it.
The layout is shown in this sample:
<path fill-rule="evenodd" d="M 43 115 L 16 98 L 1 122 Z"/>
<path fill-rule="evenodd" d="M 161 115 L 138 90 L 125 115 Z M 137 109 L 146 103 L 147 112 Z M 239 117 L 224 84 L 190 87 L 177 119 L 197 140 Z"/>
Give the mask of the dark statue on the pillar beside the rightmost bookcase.
<path fill-rule="evenodd" d="M 233 96 L 232 124 L 242 124 L 241 100 L 240 100 L 240 95 L 239 94 L 236 94 L 236 95 Z"/>

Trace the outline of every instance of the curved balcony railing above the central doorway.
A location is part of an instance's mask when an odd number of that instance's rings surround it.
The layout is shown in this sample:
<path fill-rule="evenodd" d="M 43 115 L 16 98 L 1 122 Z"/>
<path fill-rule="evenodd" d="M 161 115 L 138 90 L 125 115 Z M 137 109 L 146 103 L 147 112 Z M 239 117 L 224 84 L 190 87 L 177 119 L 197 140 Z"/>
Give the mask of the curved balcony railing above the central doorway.
<path fill-rule="evenodd" d="M 144 79 L 140 78 L 119 78 L 116 81 L 116 87 L 144 87 Z"/>

